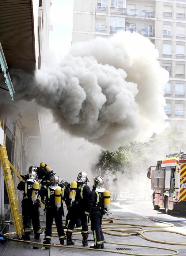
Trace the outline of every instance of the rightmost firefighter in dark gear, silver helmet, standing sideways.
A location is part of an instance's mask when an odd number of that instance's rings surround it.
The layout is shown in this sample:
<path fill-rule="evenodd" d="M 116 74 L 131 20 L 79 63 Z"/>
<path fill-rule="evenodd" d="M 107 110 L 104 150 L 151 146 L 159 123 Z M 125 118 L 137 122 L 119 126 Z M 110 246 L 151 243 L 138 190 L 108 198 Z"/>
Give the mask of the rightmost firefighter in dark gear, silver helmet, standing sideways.
<path fill-rule="evenodd" d="M 103 192 L 105 188 L 102 188 L 104 184 L 103 178 L 98 176 L 94 178 L 94 185 L 91 194 L 88 198 L 88 204 L 86 207 L 86 214 L 90 213 L 91 230 L 94 235 L 94 246 L 90 248 L 102 249 L 104 248 L 105 238 L 102 232 L 102 218 L 105 214 L 103 205 Z"/>

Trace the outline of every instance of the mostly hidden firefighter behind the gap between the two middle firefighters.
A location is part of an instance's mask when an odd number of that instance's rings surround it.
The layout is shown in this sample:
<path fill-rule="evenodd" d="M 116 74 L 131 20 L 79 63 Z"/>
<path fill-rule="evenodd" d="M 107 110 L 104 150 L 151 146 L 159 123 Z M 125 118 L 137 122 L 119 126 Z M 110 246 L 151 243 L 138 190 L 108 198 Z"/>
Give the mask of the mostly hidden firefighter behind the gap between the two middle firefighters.
<path fill-rule="evenodd" d="M 70 203 L 69 203 L 69 200 L 68 200 L 68 197 L 69 197 L 69 188 L 71 186 L 70 183 L 68 183 L 68 181 L 65 181 L 65 180 L 61 180 L 60 183 L 59 183 L 59 186 L 61 188 L 64 188 L 65 191 L 66 191 L 66 197 L 64 199 L 65 201 L 65 204 L 67 206 L 67 210 L 68 210 L 68 213 L 67 213 L 67 216 L 66 216 L 66 220 L 65 220 L 65 227 L 67 228 L 68 227 L 68 223 L 69 223 L 69 219 L 70 219 L 70 210 L 71 210 L 71 207 L 70 207 Z M 79 218 L 76 219 L 76 228 L 82 228 L 81 227 L 81 221 Z"/>

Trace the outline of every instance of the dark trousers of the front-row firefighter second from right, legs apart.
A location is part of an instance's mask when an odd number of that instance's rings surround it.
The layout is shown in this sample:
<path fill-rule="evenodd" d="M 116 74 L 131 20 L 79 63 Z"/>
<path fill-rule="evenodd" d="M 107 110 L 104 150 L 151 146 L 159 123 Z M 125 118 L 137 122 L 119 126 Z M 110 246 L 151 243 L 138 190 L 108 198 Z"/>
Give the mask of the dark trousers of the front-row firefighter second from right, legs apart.
<path fill-rule="evenodd" d="M 88 234 L 88 221 L 87 221 L 87 215 L 84 214 L 84 210 L 73 207 L 70 209 L 70 221 L 68 223 L 67 232 L 73 232 L 73 229 L 76 225 L 77 220 L 80 219 L 81 226 L 82 226 L 82 235 Z"/>

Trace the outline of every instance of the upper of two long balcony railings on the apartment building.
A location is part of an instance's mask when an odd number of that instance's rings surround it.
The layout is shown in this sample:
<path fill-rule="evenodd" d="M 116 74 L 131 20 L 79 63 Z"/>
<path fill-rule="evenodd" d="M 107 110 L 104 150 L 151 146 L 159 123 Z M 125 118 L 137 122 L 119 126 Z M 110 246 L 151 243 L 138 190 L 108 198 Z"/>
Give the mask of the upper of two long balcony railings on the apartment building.
<path fill-rule="evenodd" d="M 111 14 L 117 14 L 117 15 L 138 16 L 143 18 L 155 18 L 155 12 L 153 11 L 111 7 L 110 12 Z"/>

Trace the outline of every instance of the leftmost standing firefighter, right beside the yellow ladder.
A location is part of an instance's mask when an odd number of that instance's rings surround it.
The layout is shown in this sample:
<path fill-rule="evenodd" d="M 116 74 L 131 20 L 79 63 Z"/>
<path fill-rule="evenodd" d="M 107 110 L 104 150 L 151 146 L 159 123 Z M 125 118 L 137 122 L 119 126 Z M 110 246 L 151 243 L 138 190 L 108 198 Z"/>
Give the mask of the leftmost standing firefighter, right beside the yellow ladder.
<path fill-rule="evenodd" d="M 34 171 L 35 170 L 35 171 Z M 18 184 L 18 189 L 20 191 L 24 191 L 23 200 L 22 200 L 22 218 L 23 218 L 23 228 L 24 234 L 22 236 L 23 240 L 30 240 L 30 234 L 32 233 L 31 222 L 34 229 L 34 238 L 38 240 L 40 238 L 40 234 L 42 233 L 41 225 L 40 225 L 40 212 L 39 207 L 41 204 L 39 203 L 38 192 L 35 191 L 35 199 L 32 199 L 33 185 L 37 182 L 37 174 L 36 169 L 32 168 L 28 174 L 28 178 L 26 180 L 22 180 Z M 37 182 L 38 183 L 38 182 Z M 41 188 L 41 185 L 38 183 L 38 189 Z"/>

